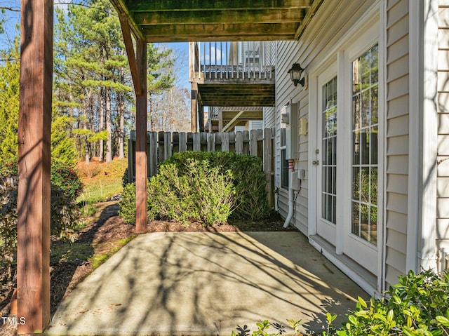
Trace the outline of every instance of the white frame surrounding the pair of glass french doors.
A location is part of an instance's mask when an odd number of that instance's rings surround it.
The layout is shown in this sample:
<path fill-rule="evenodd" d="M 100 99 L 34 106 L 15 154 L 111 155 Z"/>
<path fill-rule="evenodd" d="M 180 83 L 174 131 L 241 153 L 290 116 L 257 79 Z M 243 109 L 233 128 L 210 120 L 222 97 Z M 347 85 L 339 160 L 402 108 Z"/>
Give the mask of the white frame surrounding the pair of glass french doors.
<path fill-rule="evenodd" d="M 337 135 L 338 141 L 340 144 L 344 142 L 345 145 L 350 144 L 350 141 L 342 138 L 342 135 L 347 138 L 350 137 L 351 134 L 351 125 L 350 123 L 342 123 L 341 121 L 342 113 L 351 112 L 351 71 L 348 70 L 348 67 L 351 66 L 349 63 L 347 56 L 345 55 L 345 51 L 351 47 L 354 41 L 360 39 L 360 36 L 365 34 L 366 32 L 370 32 L 370 36 L 368 37 L 369 43 L 366 43 L 366 47 L 369 48 L 372 45 L 373 41 L 377 41 L 379 44 L 379 162 L 378 162 L 378 187 L 379 187 L 379 200 L 378 200 L 378 238 L 377 238 L 377 269 L 375 269 L 375 274 L 377 274 L 377 288 L 373 288 L 373 290 L 378 291 L 383 289 L 382 283 L 384 283 L 384 153 L 385 153 L 385 140 L 384 140 L 384 106 L 385 106 L 385 94 L 384 94 L 384 58 L 385 58 L 385 43 L 384 43 L 384 1 L 377 2 L 371 9 L 366 13 L 366 15 L 359 20 L 359 22 L 349 29 L 347 34 L 344 34 L 343 38 L 335 43 L 333 48 L 330 51 L 327 51 L 326 55 L 330 55 L 327 59 L 323 58 L 321 62 L 316 63 L 314 67 L 309 70 L 309 129 L 311 131 L 317 130 L 319 126 L 316 114 L 320 111 L 320 102 L 319 102 L 319 76 L 326 71 L 330 65 L 334 62 L 337 63 Z M 370 31 L 370 28 L 374 29 Z M 362 34 L 361 34 L 362 33 Z M 371 41 L 373 40 L 373 41 Z M 363 48 L 361 48 L 361 53 L 363 53 Z M 349 106 L 349 110 L 348 110 Z M 347 117 L 348 118 L 348 117 Z M 315 236 L 317 234 L 317 221 L 319 220 L 319 208 L 315 202 L 317 197 L 319 196 L 320 191 L 316 189 L 316 181 L 318 178 L 318 170 L 317 166 L 313 165 L 312 162 L 319 159 L 319 154 L 316 154 L 316 149 L 319 149 L 321 145 L 317 142 L 316 136 L 311 135 L 309 138 L 309 224 L 308 224 L 308 234 L 309 236 Z M 349 147 L 351 148 L 351 147 Z M 340 157 L 340 160 L 339 160 Z M 350 159 L 350 158 L 349 158 Z M 342 163 L 341 161 L 346 161 L 346 163 Z M 346 167 L 347 171 L 349 171 L 349 166 L 351 162 L 347 159 L 342 158 L 337 155 L 337 166 Z M 320 167 L 320 166 L 319 166 Z M 338 169 L 338 168 L 337 168 Z M 347 173 L 349 177 L 351 175 Z M 335 264 L 338 264 L 340 268 L 344 269 L 347 274 L 354 274 L 349 268 L 345 267 L 341 261 L 335 259 L 335 255 L 342 254 L 344 252 L 344 236 L 347 236 L 350 232 L 348 218 L 350 219 L 351 212 L 351 202 L 350 202 L 350 193 L 351 193 L 351 185 L 347 183 L 343 183 L 349 177 L 344 177 L 341 180 L 337 180 L 337 183 L 340 181 L 340 184 L 337 184 L 337 191 L 343 193 L 344 196 L 337 196 L 338 199 L 342 199 L 345 203 L 345 206 L 342 208 L 342 216 L 340 217 L 337 214 L 337 233 L 335 238 L 335 251 L 330 251 L 333 253 L 332 255 L 327 255 L 330 260 L 333 260 Z M 346 185 L 345 185 L 346 184 Z M 338 208 L 338 206 L 337 206 Z M 310 239 L 311 243 L 319 248 L 319 243 L 317 241 Z M 322 246 L 321 246 L 322 248 Z M 324 252 L 323 252 L 324 253 Z M 361 262 L 363 265 L 363 262 Z M 359 284 L 363 283 L 363 278 L 360 278 L 358 281 Z M 363 285 L 363 284 L 361 284 Z M 363 285 L 363 288 L 370 288 L 368 285 Z"/>

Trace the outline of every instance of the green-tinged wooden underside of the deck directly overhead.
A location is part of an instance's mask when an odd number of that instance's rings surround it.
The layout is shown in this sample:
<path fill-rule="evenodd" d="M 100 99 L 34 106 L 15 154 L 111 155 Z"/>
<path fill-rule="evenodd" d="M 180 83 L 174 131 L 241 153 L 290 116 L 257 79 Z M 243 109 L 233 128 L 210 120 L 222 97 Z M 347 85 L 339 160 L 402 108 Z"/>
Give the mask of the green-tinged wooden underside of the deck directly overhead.
<path fill-rule="evenodd" d="M 323 0 L 111 0 L 151 42 L 299 39 Z"/>

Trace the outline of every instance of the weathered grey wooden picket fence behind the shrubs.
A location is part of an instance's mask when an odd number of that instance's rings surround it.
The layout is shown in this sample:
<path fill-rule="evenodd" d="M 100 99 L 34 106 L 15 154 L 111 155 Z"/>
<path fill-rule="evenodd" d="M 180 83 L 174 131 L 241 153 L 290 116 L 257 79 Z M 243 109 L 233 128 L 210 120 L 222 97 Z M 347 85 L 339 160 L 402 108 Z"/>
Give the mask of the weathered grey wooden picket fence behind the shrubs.
<path fill-rule="evenodd" d="M 148 177 L 157 173 L 159 163 L 175 152 L 232 152 L 263 159 L 270 206 L 274 204 L 274 128 L 236 133 L 147 132 Z M 128 140 L 128 181 L 135 181 L 135 130 Z"/>

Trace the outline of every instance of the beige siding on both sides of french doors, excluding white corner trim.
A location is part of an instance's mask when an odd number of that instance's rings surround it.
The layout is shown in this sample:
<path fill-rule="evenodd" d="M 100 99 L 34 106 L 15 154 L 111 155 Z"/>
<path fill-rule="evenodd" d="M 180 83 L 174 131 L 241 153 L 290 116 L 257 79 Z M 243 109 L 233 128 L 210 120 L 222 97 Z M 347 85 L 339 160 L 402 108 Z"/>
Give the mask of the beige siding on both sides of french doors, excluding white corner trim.
<path fill-rule="evenodd" d="M 407 253 L 407 229 L 408 229 L 408 0 L 378 1 L 380 11 L 384 13 L 384 34 L 386 51 L 380 51 L 385 60 L 384 79 L 386 99 L 384 101 L 384 274 L 387 283 L 395 283 L 397 276 L 406 272 Z M 363 18 L 368 9 L 373 6 L 373 1 L 328 1 L 323 4 L 311 29 L 308 29 L 300 41 L 278 42 L 276 63 L 276 148 L 280 145 L 280 112 L 288 102 L 299 102 L 299 118 L 310 120 L 316 114 L 316 106 L 311 106 L 308 83 L 316 84 L 307 79 L 304 88 L 293 86 L 287 74 L 293 63 L 300 63 L 307 69 L 307 73 L 313 72 L 326 62 L 337 62 L 337 49 L 346 43 L 347 34 L 356 22 Z M 340 27 L 340 29 L 335 29 Z M 334 54 L 335 56 L 332 56 Z M 330 56 L 331 55 L 331 56 Z M 382 99 L 382 98 L 381 98 Z M 311 125 L 313 127 L 313 125 Z M 306 170 L 305 178 L 301 181 L 299 194 L 295 194 L 295 226 L 304 234 L 316 234 L 309 223 L 309 207 L 316 202 L 316 194 L 311 197 L 309 186 L 309 174 L 311 173 L 311 159 L 316 148 L 311 148 L 309 137 L 314 135 L 314 129 L 309 127 L 307 135 L 298 137 L 298 160 L 295 168 Z M 316 144 L 315 144 L 316 145 Z M 276 186 L 279 187 L 281 178 L 280 151 L 276 151 Z M 309 190 L 310 189 L 310 190 Z M 279 213 L 286 217 L 288 213 L 288 192 L 279 188 L 278 199 Z M 382 206 L 380 206 L 382 210 Z M 382 255 L 382 253 L 380 253 Z M 381 257 L 381 256 L 380 256 Z M 383 262 L 383 260 L 382 260 Z M 382 290 L 384 284 L 377 286 Z"/>

